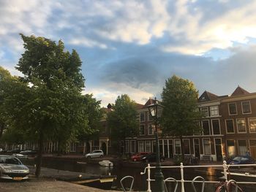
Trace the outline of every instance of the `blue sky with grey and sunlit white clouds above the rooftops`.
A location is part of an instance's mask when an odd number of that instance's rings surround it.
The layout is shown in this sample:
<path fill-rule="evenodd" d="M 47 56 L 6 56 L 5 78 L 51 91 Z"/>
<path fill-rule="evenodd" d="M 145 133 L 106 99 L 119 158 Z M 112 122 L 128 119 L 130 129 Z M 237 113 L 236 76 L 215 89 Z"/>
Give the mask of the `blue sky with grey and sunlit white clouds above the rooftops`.
<path fill-rule="evenodd" d="M 255 9 L 249 0 L 0 0 L 0 66 L 22 75 L 22 33 L 77 50 L 84 93 L 102 107 L 121 94 L 161 99 L 174 74 L 199 94 L 256 92 Z"/>

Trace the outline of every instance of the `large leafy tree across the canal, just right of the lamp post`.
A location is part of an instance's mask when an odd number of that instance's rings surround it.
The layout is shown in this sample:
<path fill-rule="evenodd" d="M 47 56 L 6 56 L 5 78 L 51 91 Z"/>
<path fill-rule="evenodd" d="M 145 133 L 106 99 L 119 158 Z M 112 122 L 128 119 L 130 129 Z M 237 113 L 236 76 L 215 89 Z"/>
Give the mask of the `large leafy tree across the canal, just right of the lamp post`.
<path fill-rule="evenodd" d="M 162 131 L 163 134 L 181 139 L 181 155 L 184 160 L 183 137 L 201 131 L 198 124 L 200 112 L 197 110 L 198 91 L 193 82 L 173 75 L 165 81 L 162 91 Z"/>

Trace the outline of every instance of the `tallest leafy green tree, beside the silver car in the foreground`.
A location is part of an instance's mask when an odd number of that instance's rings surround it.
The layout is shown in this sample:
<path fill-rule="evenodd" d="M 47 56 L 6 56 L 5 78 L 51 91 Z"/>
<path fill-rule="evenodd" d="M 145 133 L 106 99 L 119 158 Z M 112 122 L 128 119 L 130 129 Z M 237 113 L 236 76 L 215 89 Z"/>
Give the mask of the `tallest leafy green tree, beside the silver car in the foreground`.
<path fill-rule="evenodd" d="M 23 39 L 25 52 L 18 62 L 23 73 L 15 94 L 5 105 L 15 124 L 38 140 L 37 177 L 42 165 L 43 143 L 49 140 L 61 144 L 75 137 L 78 129 L 89 131 L 88 112 L 81 91 L 84 78 L 80 73 L 78 53 L 64 50 L 64 43 L 44 37 Z"/>

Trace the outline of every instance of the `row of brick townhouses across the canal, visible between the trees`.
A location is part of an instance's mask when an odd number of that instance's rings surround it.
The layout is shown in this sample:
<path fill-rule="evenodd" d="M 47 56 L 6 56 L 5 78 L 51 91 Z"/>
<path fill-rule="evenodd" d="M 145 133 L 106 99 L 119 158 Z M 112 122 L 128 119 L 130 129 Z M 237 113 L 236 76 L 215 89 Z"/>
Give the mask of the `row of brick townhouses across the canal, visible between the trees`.
<path fill-rule="evenodd" d="M 154 152 L 155 138 L 147 106 L 138 104 L 140 134 L 127 138 L 126 153 Z M 249 93 L 238 86 L 230 96 L 217 96 L 205 91 L 198 99 L 198 108 L 204 118 L 200 120 L 203 133 L 184 137 L 184 153 L 200 159 L 222 161 L 234 155 L 245 155 L 247 151 L 256 158 L 256 93 Z M 111 110 L 108 105 L 108 110 Z M 99 147 L 111 153 L 110 130 L 102 119 L 102 134 Z M 104 133 L 104 134 L 103 134 Z M 181 141 L 176 137 L 159 139 L 160 153 L 167 158 L 181 154 Z"/>

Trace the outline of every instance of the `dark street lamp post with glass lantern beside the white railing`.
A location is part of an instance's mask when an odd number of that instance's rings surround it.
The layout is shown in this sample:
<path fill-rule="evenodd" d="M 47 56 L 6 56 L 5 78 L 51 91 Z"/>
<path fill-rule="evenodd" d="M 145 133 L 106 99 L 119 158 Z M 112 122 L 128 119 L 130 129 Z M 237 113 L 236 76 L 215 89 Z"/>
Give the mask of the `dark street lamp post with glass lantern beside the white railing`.
<path fill-rule="evenodd" d="M 153 104 L 148 105 L 148 111 L 150 112 L 151 116 L 154 118 L 154 135 L 156 139 L 156 155 L 157 155 L 157 166 L 156 166 L 156 172 L 154 174 L 154 178 L 156 180 L 156 188 L 159 192 L 165 192 L 165 185 L 164 185 L 164 175 L 162 174 L 161 169 L 161 163 L 160 163 L 160 154 L 159 154 L 159 139 L 158 139 L 158 133 L 157 133 L 157 124 L 158 120 L 162 115 L 162 104 L 159 104 L 157 99 L 154 99 Z"/>

